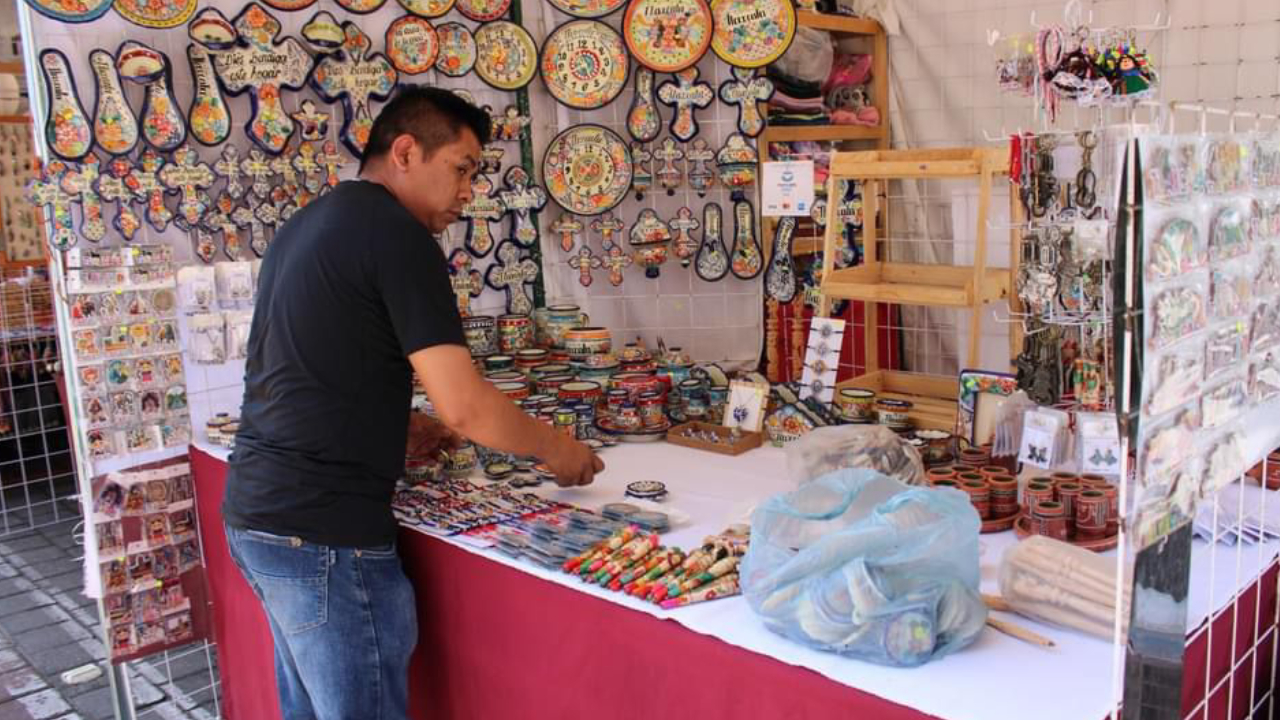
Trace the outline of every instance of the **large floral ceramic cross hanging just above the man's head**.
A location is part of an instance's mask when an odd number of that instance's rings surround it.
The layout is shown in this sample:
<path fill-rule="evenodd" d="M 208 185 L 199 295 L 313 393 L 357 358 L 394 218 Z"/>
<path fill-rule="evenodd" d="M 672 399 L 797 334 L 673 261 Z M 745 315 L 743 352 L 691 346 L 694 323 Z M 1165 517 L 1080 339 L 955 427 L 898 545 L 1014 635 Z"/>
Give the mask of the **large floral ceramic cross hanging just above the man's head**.
<path fill-rule="evenodd" d="M 387 100 L 399 73 L 381 53 L 370 53 L 369 36 L 353 22 L 342 23 L 343 44 L 337 53 L 321 55 L 311 73 L 311 87 L 326 102 L 342 102 L 338 137 L 360 158 L 374 128 L 374 100 Z"/>

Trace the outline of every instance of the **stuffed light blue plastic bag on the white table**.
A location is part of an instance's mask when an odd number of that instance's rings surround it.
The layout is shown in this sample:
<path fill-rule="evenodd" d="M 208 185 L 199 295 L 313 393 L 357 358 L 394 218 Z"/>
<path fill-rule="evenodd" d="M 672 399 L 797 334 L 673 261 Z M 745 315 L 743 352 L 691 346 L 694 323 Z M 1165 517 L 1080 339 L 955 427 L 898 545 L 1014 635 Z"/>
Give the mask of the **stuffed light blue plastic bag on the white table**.
<path fill-rule="evenodd" d="M 829 473 L 751 515 L 742 594 L 767 628 L 819 650 L 915 666 L 973 642 L 978 512 L 952 488 Z"/>

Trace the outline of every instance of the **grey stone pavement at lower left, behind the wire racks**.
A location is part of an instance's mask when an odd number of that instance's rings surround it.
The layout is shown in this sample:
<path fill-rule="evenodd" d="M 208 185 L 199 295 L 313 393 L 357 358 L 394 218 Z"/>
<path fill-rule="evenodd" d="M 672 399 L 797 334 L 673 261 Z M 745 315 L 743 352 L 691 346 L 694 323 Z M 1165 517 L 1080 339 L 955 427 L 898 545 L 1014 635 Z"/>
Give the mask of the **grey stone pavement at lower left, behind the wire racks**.
<path fill-rule="evenodd" d="M 82 684 L 61 679 L 82 665 L 106 669 L 97 603 L 81 593 L 76 530 L 65 521 L 0 537 L 0 720 L 115 717 L 105 673 Z M 212 657 L 197 643 L 132 662 L 138 720 L 215 720 Z"/>

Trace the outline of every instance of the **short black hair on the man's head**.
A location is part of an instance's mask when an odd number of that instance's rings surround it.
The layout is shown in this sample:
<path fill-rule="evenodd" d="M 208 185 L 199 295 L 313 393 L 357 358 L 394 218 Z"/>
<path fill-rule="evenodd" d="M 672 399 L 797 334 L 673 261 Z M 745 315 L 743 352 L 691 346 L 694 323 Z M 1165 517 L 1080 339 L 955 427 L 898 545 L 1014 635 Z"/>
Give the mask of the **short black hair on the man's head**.
<path fill-rule="evenodd" d="M 406 133 L 412 135 L 430 156 L 457 140 L 462 128 L 471 128 L 480 145 L 488 145 L 490 127 L 488 113 L 453 92 L 424 85 L 406 85 L 374 120 L 360 169 L 364 170 L 370 160 L 389 152 L 392 142 Z"/>

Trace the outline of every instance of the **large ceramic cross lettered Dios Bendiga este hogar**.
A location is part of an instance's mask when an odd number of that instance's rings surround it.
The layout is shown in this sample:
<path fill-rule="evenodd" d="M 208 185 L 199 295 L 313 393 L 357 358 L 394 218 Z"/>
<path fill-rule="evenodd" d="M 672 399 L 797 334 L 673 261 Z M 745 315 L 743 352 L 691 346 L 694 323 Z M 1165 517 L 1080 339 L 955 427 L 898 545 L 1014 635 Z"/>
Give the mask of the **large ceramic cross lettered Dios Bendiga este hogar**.
<path fill-rule="evenodd" d="M 285 90 L 302 90 L 311 74 L 311 55 L 292 37 L 276 41 L 280 20 L 257 3 L 250 3 L 236 18 L 239 41 L 214 55 L 214 68 L 232 95 L 250 94 L 252 113 L 244 135 L 275 155 L 293 135 L 293 119 L 282 102 Z"/>

